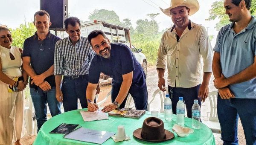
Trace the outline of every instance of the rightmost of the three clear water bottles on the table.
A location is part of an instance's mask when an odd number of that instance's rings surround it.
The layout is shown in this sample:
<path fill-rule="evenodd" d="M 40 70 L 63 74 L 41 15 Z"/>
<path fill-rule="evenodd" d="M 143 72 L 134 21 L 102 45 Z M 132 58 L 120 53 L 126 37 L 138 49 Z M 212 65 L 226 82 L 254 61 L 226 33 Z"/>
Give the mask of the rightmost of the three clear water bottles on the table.
<path fill-rule="evenodd" d="M 201 119 L 201 108 L 198 104 L 198 100 L 194 100 L 192 106 L 192 128 L 200 129 L 200 119 Z"/>

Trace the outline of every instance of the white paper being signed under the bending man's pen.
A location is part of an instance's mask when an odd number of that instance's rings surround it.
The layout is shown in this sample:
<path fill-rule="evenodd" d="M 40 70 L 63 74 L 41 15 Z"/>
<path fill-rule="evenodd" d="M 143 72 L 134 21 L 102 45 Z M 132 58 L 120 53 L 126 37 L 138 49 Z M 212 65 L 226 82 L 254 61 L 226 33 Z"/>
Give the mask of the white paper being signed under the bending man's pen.
<path fill-rule="evenodd" d="M 103 120 L 103 119 L 109 119 L 108 115 L 102 111 L 95 111 L 95 112 L 90 112 L 90 111 L 80 111 L 83 119 L 85 122 L 90 122 L 94 120 Z"/>

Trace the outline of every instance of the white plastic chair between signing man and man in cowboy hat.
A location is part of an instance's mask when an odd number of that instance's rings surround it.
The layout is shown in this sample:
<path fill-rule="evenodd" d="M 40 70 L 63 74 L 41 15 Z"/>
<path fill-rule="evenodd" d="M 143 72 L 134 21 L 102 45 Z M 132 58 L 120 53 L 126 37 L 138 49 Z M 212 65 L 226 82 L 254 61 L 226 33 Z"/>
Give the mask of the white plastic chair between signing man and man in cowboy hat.
<path fill-rule="evenodd" d="M 155 99 L 155 97 L 157 95 L 159 95 L 160 96 L 160 102 L 161 102 L 160 113 L 164 113 L 164 108 L 163 108 L 164 99 L 166 98 L 165 95 L 168 94 L 168 87 L 165 87 L 165 89 L 166 89 L 165 92 L 161 91 L 160 89 L 157 89 L 157 90 L 154 91 L 152 98 L 148 101 L 148 111 L 149 112 L 150 112 L 150 105 L 151 105 L 152 101 Z"/>

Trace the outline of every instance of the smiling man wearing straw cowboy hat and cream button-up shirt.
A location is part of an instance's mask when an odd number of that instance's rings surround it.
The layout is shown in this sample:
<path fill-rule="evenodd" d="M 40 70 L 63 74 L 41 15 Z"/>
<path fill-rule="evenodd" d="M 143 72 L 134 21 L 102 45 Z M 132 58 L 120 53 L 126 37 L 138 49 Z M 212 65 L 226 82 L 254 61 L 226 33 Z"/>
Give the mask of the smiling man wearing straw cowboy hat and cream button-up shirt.
<path fill-rule="evenodd" d="M 171 0 L 171 7 L 161 9 L 164 14 L 172 17 L 174 26 L 164 32 L 157 54 L 158 87 L 164 91 L 163 76 L 167 61 L 167 84 L 169 95 L 172 95 L 172 111 L 176 114 L 179 97 L 183 97 L 189 118 L 192 117 L 194 99 L 201 98 L 198 101 L 201 106 L 201 101 L 207 98 L 212 74 L 213 52 L 207 31 L 204 26 L 188 18 L 198 9 L 197 0 Z M 201 56 L 204 61 L 202 83 Z"/>

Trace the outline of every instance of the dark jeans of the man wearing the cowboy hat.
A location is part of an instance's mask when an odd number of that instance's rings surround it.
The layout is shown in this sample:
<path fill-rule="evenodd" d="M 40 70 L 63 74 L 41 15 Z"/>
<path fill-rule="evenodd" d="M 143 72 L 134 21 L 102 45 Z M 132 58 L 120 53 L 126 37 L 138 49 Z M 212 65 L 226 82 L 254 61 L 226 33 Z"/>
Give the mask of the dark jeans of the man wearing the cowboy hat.
<path fill-rule="evenodd" d="M 168 93 L 170 99 L 172 100 L 172 113 L 176 114 L 176 107 L 179 101 L 179 97 L 183 97 L 183 102 L 186 104 L 186 111 L 187 116 L 192 118 L 192 106 L 194 104 L 194 100 L 198 99 L 198 104 L 201 107 L 201 98 L 198 98 L 198 92 L 201 84 L 190 87 L 190 88 L 183 88 L 183 87 L 171 87 L 168 85 Z"/>

